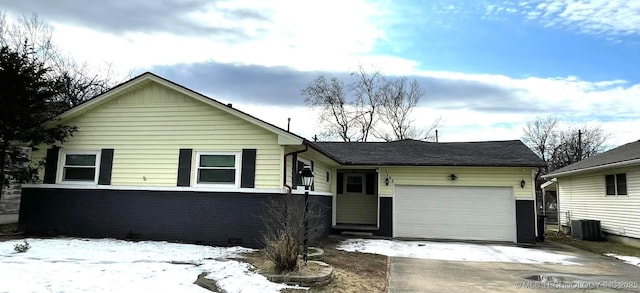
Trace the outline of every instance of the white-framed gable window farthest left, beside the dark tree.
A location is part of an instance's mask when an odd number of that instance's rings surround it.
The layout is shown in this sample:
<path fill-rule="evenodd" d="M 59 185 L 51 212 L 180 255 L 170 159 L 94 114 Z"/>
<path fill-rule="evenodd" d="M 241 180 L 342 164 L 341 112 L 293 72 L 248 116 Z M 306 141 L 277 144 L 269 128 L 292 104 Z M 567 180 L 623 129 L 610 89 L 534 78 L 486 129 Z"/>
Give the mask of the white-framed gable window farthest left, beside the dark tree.
<path fill-rule="evenodd" d="M 65 152 L 62 157 L 62 182 L 96 183 L 98 152 Z"/>

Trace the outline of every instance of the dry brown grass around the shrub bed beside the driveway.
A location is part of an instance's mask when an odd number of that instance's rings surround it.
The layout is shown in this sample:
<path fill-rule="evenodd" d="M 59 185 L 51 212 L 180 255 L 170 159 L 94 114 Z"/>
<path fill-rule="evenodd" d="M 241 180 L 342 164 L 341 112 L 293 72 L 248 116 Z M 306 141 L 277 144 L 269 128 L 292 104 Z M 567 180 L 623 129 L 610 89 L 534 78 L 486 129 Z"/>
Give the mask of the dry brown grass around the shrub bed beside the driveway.
<path fill-rule="evenodd" d="M 337 250 L 340 239 L 325 238 L 315 246 L 324 250 L 324 262 L 333 267 L 333 281 L 323 287 L 309 290 L 286 289 L 283 292 L 387 292 L 389 284 L 389 258 L 384 255 Z M 262 252 L 237 259 L 246 261 L 260 270 L 273 267 Z"/>

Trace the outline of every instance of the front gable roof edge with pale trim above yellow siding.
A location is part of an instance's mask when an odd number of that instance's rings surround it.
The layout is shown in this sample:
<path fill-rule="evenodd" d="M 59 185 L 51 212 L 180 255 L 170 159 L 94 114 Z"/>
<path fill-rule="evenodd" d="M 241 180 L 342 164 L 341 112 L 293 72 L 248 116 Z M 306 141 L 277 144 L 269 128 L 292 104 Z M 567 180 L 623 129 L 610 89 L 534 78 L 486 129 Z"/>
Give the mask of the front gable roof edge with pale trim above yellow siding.
<path fill-rule="evenodd" d="M 214 100 L 212 98 L 209 98 L 203 94 L 200 94 L 194 90 L 188 89 L 182 85 L 179 85 L 177 83 L 174 83 L 168 79 L 165 79 L 161 76 L 158 76 L 156 74 L 153 74 L 151 72 L 145 72 L 143 74 L 140 74 L 128 81 L 125 81 L 113 88 L 111 88 L 110 90 L 70 109 L 65 111 L 64 113 L 58 115 L 57 117 L 55 117 L 54 119 L 52 119 L 49 123 L 59 123 L 60 121 L 64 121 L 67 119 L 70 119 L 72 117 L 75 117 L 77 115 L 80 115 L 81 113 L 84 113 L 85 111 L 92 109 L 94 107 L 97 107 L 103 103 L 105 103 L 106 101 L 111 100 L 114 97 L 119 96 L 121 93 L 126 93 L 127 91 L 131 90 L 131 89 L 136 89 L 138 87 L 144 86 L 149 82 L 155 82 L 157 84 L 161 84 L 164 85 L 166 87 L 169 87 L 177 92 L 180 92 L 182 94 L 185 94 L 186 96 L 189 96 L 191 98 L 194 98 L 198 101 L 204 102 L 205 104 L 208 104 L 210 106 L 213 106 L 219 110 L 222 110 L 224 112 L 227 112 L 231 115 L 234 115 L 236 117 L 239 117 L 241 119 L 244 119 L 250 123 L 253 123 L 259 127 L 265 128 L 275 134 L 278 135 L 278 143 L 282 144 L 282 145 L 301 145 L 303 143 L 308 143 L 308 141 L 306 141 L 303 137 L 298 136 L 292 132 L 286 131 L 280 127 L 277 127 L 271 123 L 265 122 L 261 119 L 258 119 L 254 116 L 251 116 L 245 112 L 242 112 L 238 109 L 235 109 L 233 107 L 231 107 L 231 105 L 226 105 L 223 104 L 217 100 Z"/>

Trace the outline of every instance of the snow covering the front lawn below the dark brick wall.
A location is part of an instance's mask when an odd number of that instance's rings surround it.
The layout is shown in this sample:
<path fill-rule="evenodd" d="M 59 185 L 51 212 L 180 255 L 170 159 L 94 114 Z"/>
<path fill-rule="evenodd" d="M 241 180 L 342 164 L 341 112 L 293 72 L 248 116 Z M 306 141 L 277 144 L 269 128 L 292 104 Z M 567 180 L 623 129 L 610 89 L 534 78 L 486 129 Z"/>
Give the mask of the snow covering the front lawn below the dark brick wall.
<path fill-rule="evenodd" d="M 210 292 L 197 276 L 216 280 L 227 292 L 279 292 L 250 265 L 229 260 L 243 247 L 211 247 L 114 239 L 27 239 L 0 242 L 0 292 Z"/>

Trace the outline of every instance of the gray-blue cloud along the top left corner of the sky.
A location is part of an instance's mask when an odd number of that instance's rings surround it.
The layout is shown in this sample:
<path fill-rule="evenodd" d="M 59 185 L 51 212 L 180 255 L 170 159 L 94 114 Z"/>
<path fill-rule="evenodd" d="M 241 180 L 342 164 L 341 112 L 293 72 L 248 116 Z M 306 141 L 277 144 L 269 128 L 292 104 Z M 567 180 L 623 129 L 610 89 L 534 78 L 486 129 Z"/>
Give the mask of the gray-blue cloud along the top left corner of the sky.
<path fill-rule="evenodd" d="M 268 21 L 268 17 L 260 11 L 228 7 L 220 0 L 113 0 L 89 4 L 81 0 L 22 0 L 4 4 L 4 9 L 16 14 L 38 14 L 48 21 L 79 25 L 111 34 L 172 32 L 240 38 L 246 36 L 246 29 L 229 25 L 233 21 Z M 198 18 L 203 14 L 207 14 L 208 21 Z"/>

